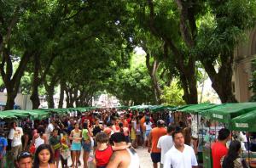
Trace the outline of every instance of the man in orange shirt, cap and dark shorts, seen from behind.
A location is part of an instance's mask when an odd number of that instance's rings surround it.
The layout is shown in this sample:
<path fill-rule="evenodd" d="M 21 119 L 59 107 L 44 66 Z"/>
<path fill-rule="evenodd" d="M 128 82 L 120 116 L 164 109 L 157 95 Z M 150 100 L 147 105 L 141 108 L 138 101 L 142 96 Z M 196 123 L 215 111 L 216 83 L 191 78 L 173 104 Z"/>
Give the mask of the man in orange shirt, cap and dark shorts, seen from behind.
<path fill-rule="evenodd" d="M 158 163 L 161 160 L 161 150 L 157 148 L 157 143 L 160 137 L 166 135 L 166 128 L 165 128 L 165 121 L 158 120 L 157 127 L 153 128 L 152 131 L 149 133 L 148 136 L 148 153 L 151 152 L 151 160 L 153 162 L 153 167 L 157 168 Z"/>

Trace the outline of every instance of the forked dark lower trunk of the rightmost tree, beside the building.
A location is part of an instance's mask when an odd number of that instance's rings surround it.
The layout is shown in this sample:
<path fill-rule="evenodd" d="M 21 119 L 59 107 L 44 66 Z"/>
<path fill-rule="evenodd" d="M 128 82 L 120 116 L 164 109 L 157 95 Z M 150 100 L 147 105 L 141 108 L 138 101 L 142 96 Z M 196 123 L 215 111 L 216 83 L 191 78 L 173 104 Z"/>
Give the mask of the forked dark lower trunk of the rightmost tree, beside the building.
<path fill-rule="evenodd" d="M 232 53 L 221 55 L 221 66 L 218 69 L 218 73 L 214 69 L 212 62 L 201 60 L 201 63 L 212 81 L 212 88 L 217 92 L 218 97 L 223 104 L 237 102 L 236 97 L 232 92 L 233 59 L 234 57 Z"/>

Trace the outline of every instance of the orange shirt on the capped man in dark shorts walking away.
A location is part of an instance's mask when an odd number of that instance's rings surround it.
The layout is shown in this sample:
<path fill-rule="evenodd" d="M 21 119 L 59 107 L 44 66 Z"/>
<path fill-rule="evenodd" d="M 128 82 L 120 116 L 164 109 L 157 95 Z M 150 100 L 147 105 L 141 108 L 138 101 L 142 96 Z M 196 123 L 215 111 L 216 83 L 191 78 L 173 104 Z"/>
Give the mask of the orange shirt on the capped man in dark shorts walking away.
<path fill-rule="evenodd" d="M 167 131 L 165 127 L 155 127 L 151 131 L 151 142 L 152 142 L 152 147 L 151 147 L 151 152 L 153 153 L 160 153 L 161 150 L 157 148 L 157 143 L 160 137 L 166 135 Z"/>

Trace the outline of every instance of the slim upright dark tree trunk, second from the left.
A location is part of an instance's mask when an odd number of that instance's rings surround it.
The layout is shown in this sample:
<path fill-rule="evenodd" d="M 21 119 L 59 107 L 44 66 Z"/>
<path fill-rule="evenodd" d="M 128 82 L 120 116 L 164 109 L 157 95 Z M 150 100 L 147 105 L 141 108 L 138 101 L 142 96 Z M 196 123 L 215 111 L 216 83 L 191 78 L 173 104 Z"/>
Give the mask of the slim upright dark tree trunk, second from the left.
<path fill-rule="evenodd" d="M 40 99 L 38 95 L 38 87 L 41 83 L 39 78 L 40 58 L 39 55 L 34 55 L 34 73 L 32 81 L 32 95 L 30 97 L 32 101 L 32 109 L 38 109 L 40 105 Z"/>

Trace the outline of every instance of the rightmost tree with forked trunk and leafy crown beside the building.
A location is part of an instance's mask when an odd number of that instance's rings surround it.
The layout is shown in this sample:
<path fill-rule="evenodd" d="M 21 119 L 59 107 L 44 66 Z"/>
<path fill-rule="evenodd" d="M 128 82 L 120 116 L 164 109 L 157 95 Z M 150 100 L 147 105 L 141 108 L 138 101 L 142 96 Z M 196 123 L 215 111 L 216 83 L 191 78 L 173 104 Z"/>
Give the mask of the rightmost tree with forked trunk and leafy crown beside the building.
<path fill-rule="evenodd" d="M 208 1 L 207 6 L 211 9 L 201 18 L 195 52 L 221 102 L 236 102 L 231 87 L 234 50 L 244 31 L 255 25 L 255 1 Z"/>

